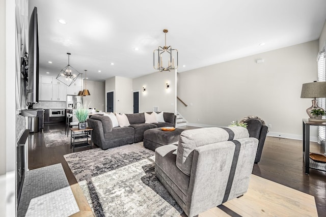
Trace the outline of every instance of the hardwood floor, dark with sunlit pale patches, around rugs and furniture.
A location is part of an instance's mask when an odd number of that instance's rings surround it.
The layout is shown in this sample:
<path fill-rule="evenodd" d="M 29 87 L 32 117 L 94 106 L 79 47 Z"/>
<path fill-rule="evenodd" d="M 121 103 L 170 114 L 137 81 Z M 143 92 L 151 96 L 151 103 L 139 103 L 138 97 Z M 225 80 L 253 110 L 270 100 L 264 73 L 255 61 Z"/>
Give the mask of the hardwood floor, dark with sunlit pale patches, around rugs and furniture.
<path fill-rule="evenodd" d="M 64 128 L 64 124 L 45 125 L 43 131 L 55 132 Z M 193 127 L 185 127 L 185 129 L 193 129 Z M 93 145 L 93 147 L 96 148 L 97 146 Z M 89 148 L 78 148 L 75 151 L 87 149 Z M 314 152 L 323 152 L 321 146 L 313 142 L 311 142 L 310 149 Z M 94 216 L 82 190 L 80 190 L 75 177 L 63 158 L 64 154 L 71 152 L 72 149 L 64 145 L 45 147 L 42 132 L 30 134 L 29 169 L 61 163 L 80 209 L 80 212 L 73 216 Z M 261 161 L 254 165 L 252 173 L 257 178 L 251 179 L 251 185 L 254 188 L 250 187 L 246 195 L 203 212 L 199 216 L 316 216 L 316 214 L 326 216 L 326 172 L 310 169 L 310 174 L 305 174 L 302 141 L 267 137 Z M 263 197 L 266 200 L 263 200 Z M 313 199 L 316 207 L 311 204 Z M 273 204 L 273 201 L 276 204 Z M 287 201 L 293 206 L 280 207 L 280 205 L 286 204 L 282 201 Z M 291 212 L 289 215 L 284 211 L 295 210 L 298 205 L 300 208 L 307 206 L 311 209 L 306 207 L 303 210 L 307 210 L 307 212 L 299 214 Z M 181 216 L 185 216 L 185 214 Z"/>

